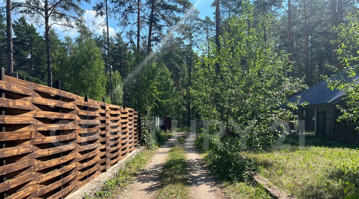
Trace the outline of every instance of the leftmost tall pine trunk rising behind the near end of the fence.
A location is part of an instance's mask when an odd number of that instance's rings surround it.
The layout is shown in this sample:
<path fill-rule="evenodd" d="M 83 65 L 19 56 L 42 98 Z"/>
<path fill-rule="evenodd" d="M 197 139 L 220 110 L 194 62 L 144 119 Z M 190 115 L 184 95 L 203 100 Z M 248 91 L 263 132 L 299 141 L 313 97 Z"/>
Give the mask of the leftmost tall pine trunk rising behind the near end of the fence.
<path fill-rule="evenodd" d="M 6 67 L 8 75 L 13 76 L 14 62 L 13 62 L 13 26 L 11 19 L 12 10 L 11 0 L 6 0 Z"/>

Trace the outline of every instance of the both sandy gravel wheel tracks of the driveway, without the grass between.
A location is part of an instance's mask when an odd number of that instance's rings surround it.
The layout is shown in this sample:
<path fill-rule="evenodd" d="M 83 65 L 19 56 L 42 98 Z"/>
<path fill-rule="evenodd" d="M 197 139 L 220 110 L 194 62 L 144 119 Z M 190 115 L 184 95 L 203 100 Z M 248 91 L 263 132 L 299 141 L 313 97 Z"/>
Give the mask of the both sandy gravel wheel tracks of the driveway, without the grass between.
<path fill-rule="evenodd" d="M 177 138 L 187 135 L 185 144 L 177 142 Z M 185 148 L 188 159 L 189 198 L 191 199 L 223 199 L 223 193 L 218 187 L 218 181 L 206 170 L 203 159 L 193 145 L 195 133 L 175 133 L 164 146 L 159 147 L 145 168 L 126 191 L 115 190 L 112 199 L 155 199 L 160 188 L 163 165 L 173 144 Z"/>

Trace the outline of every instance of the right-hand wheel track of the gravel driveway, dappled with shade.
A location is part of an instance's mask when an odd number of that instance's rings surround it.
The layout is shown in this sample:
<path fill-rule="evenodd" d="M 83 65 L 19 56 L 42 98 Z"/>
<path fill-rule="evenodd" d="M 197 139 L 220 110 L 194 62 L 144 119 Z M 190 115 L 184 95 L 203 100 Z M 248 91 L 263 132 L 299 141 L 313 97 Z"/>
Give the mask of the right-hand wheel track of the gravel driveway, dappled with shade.
<path fill-rule="evenodd" d="M 187 152 L 188 177 L 190 198 L 192 199 L 222 199 L 224 198 L 218 181 L 209 174 L 202 156 L 194 146 L 196 133 L 186 133 L 187 139 L 183 145 Z"/>

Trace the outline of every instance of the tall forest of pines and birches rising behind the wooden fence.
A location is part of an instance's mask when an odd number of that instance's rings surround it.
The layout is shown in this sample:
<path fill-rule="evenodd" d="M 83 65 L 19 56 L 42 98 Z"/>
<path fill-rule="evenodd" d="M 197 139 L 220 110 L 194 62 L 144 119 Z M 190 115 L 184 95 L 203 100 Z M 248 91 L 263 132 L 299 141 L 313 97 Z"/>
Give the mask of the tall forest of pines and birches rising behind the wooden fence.
<path fill-rule="evenodd" d="M 179 120 L 201 119 L 190 92 L 195 65 L 200 56 L 210 54 L 212 44 L 219 43 L 216 35 L 228 30 L 230 19 L 245 12 L 241 0 L 216 0 L 216 13 L 204 19 L 187 0 L 98 1 L 94 10 L 105 18 L 116 16 L 126 33 L 123 38 L 121 33 L 111 37 L 108 31 L 96 34 L 85 27 L 80 5 L 89 1 L 46 2 L 47 9 L 37 0 L 12 5 L 13 13 L 22 15 L 11 24 L 13 71 L 6 61 L 9 17 L 1 15 L 0 63 L 10 75 L 49 86 L 61 80 L 63 90 L 71 93 L 96 100 L 106 96 L 108 102 L 143 115 Z M 331 43 L 338 33 L 332 28 L 346 23 L 358 1 L 251 0 L 250 4 L 249 27 L 262 28 L 262 42 L 271 43 L 273 51 L 290 54 L 290 76 L 304 77 L 312 86 L 331 75 L 328 66 L 341 67 L 333 52 L 337 45 Z M 75 28 L 80 35 L 60 39 L 51 22 Z M 108 27 L 106 23 L 102 25 Z M 45 33 L 36 32 L 36 25 L 45 25 Z"/>

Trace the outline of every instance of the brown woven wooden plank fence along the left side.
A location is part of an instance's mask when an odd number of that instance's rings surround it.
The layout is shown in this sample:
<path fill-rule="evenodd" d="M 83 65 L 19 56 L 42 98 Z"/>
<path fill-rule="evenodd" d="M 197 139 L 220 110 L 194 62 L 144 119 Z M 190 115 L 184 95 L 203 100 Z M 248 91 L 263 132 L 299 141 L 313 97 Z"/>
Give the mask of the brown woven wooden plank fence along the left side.
<path fill-rule="evenodd" d="M 64 198 L 137 148 L 137 112 L 4 76 L 0 198 Z"/>

